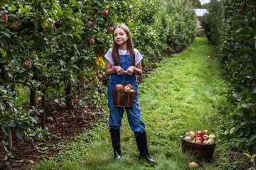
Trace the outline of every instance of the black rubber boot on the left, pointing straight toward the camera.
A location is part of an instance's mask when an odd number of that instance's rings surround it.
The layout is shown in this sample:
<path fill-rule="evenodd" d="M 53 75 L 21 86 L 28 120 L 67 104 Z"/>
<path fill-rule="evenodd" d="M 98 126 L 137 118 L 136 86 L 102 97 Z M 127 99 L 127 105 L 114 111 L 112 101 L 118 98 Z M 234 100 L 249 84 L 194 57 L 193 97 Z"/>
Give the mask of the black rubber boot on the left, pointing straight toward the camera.
<path fill-rule="evenodd" d="M 112 141 L 112 147 L 114 149 L 114 158 L 121 158 L 121 147 L 120 147 L 120 129 L 110 128 L 110 135 Z"/>

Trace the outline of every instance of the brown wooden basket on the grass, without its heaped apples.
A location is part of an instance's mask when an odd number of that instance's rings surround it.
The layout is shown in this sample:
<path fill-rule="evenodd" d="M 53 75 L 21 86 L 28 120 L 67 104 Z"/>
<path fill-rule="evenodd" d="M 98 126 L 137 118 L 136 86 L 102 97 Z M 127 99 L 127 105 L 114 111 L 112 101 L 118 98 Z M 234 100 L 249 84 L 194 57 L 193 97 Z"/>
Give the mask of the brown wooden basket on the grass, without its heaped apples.
<path fill-rule="evenodd" d="M 183 153 L 191 152 L 192 154 L 198 156 L 198 159 L 204 159 L 206 161 L 210 161 L 213 158 L 213 152 L 217 143 L 216 141 L 212 145 L 203 145 L 183 140 L 184 137 L 185 136 L 181 137 Z"/>

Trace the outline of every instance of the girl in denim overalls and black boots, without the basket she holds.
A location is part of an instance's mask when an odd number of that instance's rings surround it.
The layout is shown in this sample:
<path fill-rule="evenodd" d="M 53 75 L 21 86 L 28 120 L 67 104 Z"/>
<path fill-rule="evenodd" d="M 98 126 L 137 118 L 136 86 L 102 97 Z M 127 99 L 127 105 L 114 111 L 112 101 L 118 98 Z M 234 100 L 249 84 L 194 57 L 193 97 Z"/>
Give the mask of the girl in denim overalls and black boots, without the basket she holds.
<path fill-rule="evenodd" d="M 134 135 L 139 149 L 139 157 L 146 159 L 148 162 L 155 162 L 149 157 L 145 124 L 141 120 L 141 113 L 139 111 L 138 103 L 138 84 L 137 75 L 142 75 L 142 55 L 139 50 L 132 47 L 132 37 L 127 26 L 124 24 L 114 27 L 113 30 L 113 47 L 110 49 L 105 57 L 107 58 L 107 65 L 105 74 L 110 76 L 110 81 L 107 85 L 108 106 L 110 108 L 110 135 L 112 140 L 112 147 L 114 149 L 114 158 L 121 158 L 120 148 L 120 127 L 122 125 L 122 117 L 124 108 L 113 106 L 112 101 L 112 87 L 116 84 L 131 84 L 132 89 L 136 91 L 133 107 L 125 107 L 127 112 L 129 126 L 134 131 Z"/>

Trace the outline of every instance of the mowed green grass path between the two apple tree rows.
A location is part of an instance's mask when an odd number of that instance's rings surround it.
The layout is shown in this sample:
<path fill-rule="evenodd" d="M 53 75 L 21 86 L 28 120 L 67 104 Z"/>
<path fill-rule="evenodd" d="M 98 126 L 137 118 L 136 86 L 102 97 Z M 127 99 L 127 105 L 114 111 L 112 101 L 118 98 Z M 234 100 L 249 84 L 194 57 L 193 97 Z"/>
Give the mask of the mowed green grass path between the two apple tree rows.
<path fill-rule="evenodd" d="M 196 38 L 178 55 L 172 55 L 139 85 L 139 104 L 146 124 L 149 154 L 157 164 L 139 160 L 134 133 L 124 115 L 121 128 L 122 159 L 113 160 L 107 125 L 77 137 L 58 158 L 41 162 L 36 169 L 186 169 L 197 162 L 198 169 L 220 169 L 217 158 L 210 163 L 181 152 L 181 136 L 189 130 L 208 129 L 218 135 L 218 107 L 228 103 L 220 96 L 227 91 L 220 62 L 206 38 Z M 215 149 L 218 153 L 220 147 Z"/>

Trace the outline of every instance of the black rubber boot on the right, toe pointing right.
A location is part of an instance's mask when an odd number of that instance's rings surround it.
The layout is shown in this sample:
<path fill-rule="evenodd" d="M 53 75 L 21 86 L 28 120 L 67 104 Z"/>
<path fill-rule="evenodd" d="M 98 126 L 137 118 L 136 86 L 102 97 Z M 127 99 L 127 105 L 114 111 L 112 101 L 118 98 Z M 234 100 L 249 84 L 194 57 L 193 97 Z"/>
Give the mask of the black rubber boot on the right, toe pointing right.
<path fill-rule="evenodd" d="M 134 132 L 137 146 L 139 149 L 139 158 L 146 159 L 147 162 L 156 162 L 151 157 L 149 157 L 147 140 L 146 140 L 146 131 L 143 132 Z"/>

